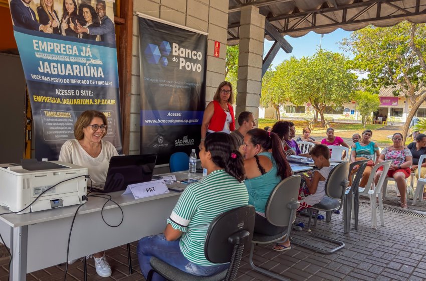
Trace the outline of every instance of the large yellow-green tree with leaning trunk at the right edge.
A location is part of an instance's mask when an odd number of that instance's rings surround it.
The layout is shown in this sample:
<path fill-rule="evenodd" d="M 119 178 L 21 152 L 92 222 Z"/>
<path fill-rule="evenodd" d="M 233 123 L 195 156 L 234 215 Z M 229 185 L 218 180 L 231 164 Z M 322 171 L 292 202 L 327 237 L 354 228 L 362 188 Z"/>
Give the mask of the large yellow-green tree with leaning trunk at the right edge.
<path fill-rule="evenodd" d="M 403 126 L 405 140 L 412 117 L 426 100 L 425 25 L 402 22 L 388 28 L 368 26 L 353 32 L 341 44 L 355 55 L 352 68 L 369 72 L 370 86 L 392 87 L 395 95 L 408 98 L 411 110 Z"/>

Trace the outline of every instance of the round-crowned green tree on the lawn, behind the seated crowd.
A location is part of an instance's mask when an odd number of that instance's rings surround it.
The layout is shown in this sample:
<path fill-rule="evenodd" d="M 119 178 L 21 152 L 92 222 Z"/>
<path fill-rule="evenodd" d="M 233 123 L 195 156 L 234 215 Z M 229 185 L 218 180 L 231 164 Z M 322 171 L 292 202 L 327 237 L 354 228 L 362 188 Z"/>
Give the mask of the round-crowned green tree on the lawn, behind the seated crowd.
<path fill-rule="evenodd" d="M 294 63 L 288 87 L 295 104 L 310 102 L 325 125 L 326 106 L 349 102 L 354 93 L 356 75 L 346 68 L 347 60 L 339 53 L 318 50 L 312 57 Z"/>

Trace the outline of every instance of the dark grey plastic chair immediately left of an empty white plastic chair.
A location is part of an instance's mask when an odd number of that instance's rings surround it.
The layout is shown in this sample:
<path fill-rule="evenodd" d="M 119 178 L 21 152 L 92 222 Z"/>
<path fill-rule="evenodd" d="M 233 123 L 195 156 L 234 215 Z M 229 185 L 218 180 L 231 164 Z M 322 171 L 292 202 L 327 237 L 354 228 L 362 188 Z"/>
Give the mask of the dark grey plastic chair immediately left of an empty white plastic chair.
<path fill-rule="evenodd" d="M 359 196 L 358 196 L 358 187 L 359 182 L 361 181 L 362 173 L 364 173 L 365 167 L 367 167 L 368 160 L 360 160 L 350 164 L 349 166 L 349 177 L 350 172 L 353 167 L 359 165 L 359 169 L 355 174 L 355 178 L 352 181 L 352 185 L 349 190 L 346 190 L 345 196 L 343 197 L 343 223 L 344 223 L 344 233 L 350 232 L 350 220 L 352 212 L 352 200 L 353 200 L 353 209 L 355 217 L 355 229 L 358 229 L 358 209 L 359 209 Z"/>

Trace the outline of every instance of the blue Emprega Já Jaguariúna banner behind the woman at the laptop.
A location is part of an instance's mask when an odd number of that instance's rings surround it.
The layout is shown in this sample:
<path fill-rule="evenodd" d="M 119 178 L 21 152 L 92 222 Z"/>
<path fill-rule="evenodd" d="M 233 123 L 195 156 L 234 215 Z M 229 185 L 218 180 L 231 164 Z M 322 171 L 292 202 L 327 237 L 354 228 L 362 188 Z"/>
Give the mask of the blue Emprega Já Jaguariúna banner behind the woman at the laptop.
<path fill-rule="evenodd" d="M 34 118 L 36 158 L 57 160 L 85 110 L 108 120 L 105 140 L 122 152 L 112 2 L 10 0 Z"/>

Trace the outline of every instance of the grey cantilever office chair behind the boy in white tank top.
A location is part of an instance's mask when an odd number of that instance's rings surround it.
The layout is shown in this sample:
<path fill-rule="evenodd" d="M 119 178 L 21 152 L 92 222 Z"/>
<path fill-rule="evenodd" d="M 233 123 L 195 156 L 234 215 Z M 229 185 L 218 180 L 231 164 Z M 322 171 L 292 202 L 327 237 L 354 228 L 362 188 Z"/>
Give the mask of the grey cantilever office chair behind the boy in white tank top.
<path fill-rule="evenodd" d="M 318 239 L 333 242 L 337 244 L 338 246 L 331 250 L 324 250 L 322 248 L 315 247 L 308 243 L 295 240 L 293 239 L 293 237 L 290 236 L 290 240 L 294 244 L 323 253 L 323 254 L 334 253 L 345 246 L 345 243 L 343 243 L 342 241 L 339 241 L 337 239 L 333 239 L 324 235 L 313 233 L 311 230 L 311 222 L 312 222 L 312 214 L 314 211 L 316 211 L 316 213 L 318 213 L 319 211 L 329 212 L 334 210 L 340 210 L 342 208 L 343 197 L 345 195 L 346 187 L 349 184 L 348 175 L 349 175 L 349 162 L 342 162 L 336 167 L 334 167 L 328 176 L 327 182 L 325 183 L 325 194 L 327 196 L 325 196 L 320 203 L 315 204 L 314 206 L 311 206 L 308 208 L 309 221 L 308 221 L 307 231 L 312 236 Z M 317 218 L 318 216 L 315 216 L 314 226 L 317 223 Z"/>

